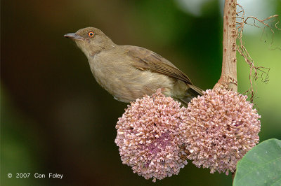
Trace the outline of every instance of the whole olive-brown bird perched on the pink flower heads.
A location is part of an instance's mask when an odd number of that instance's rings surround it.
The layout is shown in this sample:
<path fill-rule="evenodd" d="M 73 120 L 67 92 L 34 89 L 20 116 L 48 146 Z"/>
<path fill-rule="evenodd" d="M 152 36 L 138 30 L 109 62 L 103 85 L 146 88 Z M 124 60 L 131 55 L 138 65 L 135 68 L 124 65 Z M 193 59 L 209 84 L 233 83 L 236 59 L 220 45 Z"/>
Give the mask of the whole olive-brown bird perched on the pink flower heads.
<path fill-rule="evenodd" d="M 187 104 L 202 90 L 164 57 L 148 49 L 117 45 L 100 29 L 87 27 L 65 34 L 89 60 L 96 81 L 115 99 L 135 101 L 161 88 L 162 93 Z"/>

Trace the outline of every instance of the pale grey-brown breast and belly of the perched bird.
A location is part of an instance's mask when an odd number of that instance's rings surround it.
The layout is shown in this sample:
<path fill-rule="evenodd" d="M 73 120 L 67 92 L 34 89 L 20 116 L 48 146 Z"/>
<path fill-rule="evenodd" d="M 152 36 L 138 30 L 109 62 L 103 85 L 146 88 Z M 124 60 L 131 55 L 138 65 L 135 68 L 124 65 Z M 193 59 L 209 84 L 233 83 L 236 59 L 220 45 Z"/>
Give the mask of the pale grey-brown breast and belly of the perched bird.
<path fill-rule="evenodd" d="M 119 101 L 135 101 L 145 94 L 155 93 L 158 88 L 162 88 L 167 96 L 173 94 L 172 78 L 136 69 L 126 57 L 105 59 L 99 54 L 90 59 L 89 63 L 98 84 Z"/>

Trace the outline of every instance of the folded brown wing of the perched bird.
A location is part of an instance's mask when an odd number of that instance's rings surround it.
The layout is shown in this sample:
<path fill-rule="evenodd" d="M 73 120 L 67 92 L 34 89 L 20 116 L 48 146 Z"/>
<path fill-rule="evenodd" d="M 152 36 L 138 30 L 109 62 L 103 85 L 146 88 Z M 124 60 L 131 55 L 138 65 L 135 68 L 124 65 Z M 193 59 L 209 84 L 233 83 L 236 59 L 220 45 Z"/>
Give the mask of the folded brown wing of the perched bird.
<path fill-rule="evenodd" d="M 142 71 L 152 71 L 162 73 L 166 76 L 183 80 L 185 83 L 192 85 L 190 78 L 180 71 L 174 64 L 157 53 L 148 49 L 126 45 L 127 55 L 132 57 L 133 66 Z"/>

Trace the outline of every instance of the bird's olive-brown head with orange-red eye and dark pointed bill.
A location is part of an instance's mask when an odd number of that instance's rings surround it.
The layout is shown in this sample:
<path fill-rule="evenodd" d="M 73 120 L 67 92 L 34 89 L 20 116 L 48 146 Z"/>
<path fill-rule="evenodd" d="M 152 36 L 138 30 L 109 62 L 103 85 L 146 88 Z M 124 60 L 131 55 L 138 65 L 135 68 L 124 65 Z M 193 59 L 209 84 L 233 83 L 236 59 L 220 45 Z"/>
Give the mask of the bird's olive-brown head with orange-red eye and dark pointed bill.
<path fill-rule="evenodd" d="M 87 57 L 96 55 L 96 53 L 115 45 L 110 38 L 103 34 L 103 31 L 94 27 L 79 29 L 75 33 L 65 34 L 64 37 L 74 40 Z"/>

